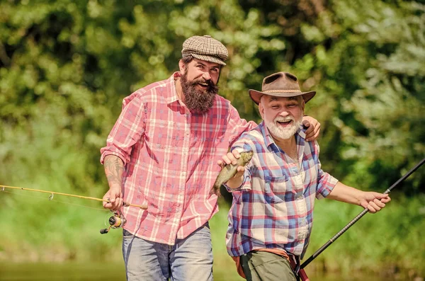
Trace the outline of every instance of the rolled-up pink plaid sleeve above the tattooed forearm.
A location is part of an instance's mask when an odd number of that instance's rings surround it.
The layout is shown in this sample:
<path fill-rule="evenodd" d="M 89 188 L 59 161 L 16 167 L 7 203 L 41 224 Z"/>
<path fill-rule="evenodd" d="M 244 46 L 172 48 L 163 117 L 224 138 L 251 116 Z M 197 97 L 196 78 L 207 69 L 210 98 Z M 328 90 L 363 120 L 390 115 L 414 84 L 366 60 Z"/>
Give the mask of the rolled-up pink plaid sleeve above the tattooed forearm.
<path fill-rule="evenodd" d="M 125 164 L 130 162 L 133 145 L 145 132 L 145 106 L 140 97 L 133 93 L 123 101 L 123 110 L 101 148 L 101 164 L 108 155 L 118 156 Z"/>

